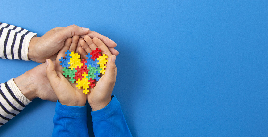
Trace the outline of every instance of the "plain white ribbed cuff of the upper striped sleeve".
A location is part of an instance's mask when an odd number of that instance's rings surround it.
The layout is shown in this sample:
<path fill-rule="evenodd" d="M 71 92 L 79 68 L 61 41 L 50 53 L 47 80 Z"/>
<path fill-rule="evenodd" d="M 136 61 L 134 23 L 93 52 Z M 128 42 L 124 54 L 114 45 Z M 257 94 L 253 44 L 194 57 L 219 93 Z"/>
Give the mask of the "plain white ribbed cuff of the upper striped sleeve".
<path fill-rule="evenodd" d="M 36 37 L 36 33 L 29 32 L 23 39 L 23 43 L 21 46 L 21 59 L 22 60 L 29 60 L 28 59 L 28 49 L 29 49 L 29 44 L 31 41 L 32 37 Z"/>

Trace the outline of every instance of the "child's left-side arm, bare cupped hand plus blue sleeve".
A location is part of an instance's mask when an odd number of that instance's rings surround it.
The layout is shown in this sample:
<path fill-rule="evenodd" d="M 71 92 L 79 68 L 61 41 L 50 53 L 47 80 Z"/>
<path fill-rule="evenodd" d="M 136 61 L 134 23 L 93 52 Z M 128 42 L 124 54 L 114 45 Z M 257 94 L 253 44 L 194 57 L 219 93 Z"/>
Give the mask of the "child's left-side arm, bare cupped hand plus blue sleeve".
<path fill-rule="evenodd" d="M 76 83 L 62 76 L 59 58 L 65 56 L 65 51 L 75 51 L 79 36 L 68 38 L 64 47 L 59 51 L 55 65 L 47 59 L 46 74 L 49 83 L 58 97 L 53 118 L 54 129 L 52 136 L 88 136 L 86 95 Z"/>

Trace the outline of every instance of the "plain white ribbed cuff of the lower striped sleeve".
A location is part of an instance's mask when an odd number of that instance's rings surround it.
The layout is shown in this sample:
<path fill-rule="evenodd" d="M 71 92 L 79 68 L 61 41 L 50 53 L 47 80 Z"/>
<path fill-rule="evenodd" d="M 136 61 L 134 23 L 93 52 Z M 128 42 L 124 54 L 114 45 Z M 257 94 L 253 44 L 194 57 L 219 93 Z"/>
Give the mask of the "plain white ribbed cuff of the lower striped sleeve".
<path fill-rule="evenodd" d="M 14 78 L 9 80 L 7 84 L 10 90 L 13 92 L 13 94 L 18 98 L 18 100 L 21 101 L 21 103 L 23 103 L 24 105 L 28 105 L 29 103 L 32 102 L 31 100 L 27 99 L 27 97 L 25 97 L 23 93 L 21 93 L 20 89 L 17 87 L 17 85 L 14 82 Z"/>

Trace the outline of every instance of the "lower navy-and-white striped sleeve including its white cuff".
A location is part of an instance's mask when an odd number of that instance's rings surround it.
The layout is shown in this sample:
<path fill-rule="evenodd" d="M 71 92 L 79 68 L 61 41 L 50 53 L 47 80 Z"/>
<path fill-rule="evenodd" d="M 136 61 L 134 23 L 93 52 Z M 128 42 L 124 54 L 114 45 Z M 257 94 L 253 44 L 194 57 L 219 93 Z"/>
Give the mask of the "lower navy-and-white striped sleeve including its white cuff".
<path fill-rule="evenodd" d="M 0 127 L 14 116 L 18 115 L 31 101 L 25 97 L 14 78 L 0 84 Z"/>

